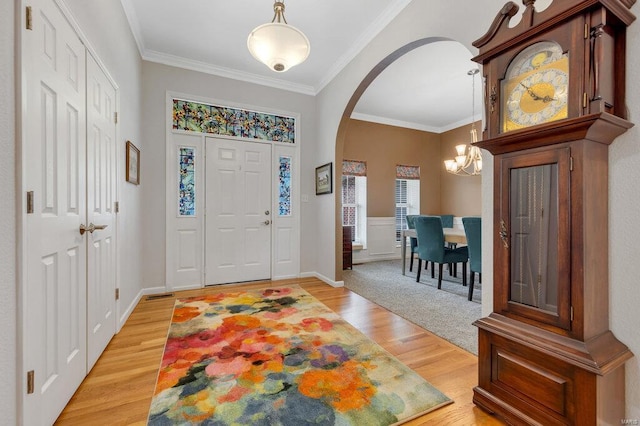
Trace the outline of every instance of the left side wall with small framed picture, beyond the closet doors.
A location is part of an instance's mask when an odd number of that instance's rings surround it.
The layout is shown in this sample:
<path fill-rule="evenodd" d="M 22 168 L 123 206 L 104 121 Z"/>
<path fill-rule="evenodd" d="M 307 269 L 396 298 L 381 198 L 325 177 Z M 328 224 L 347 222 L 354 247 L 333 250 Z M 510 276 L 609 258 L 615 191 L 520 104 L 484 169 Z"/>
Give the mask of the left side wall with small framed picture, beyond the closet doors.
<path fill-rule="evenodd" d="M 128 21 L 119 1 L 64 0 L 89 40 L 89 48 L 97 53 L 118 85 L 118 250 L 120 301 L 119 320 L 131 308 L 142 289 L 141 223 L 142 194 L 145 191 L 145 147 L 141 138 L 142 60 Z M 141 185 L 125 181 L 125 144 L 133 142 L 141 151 Z"/>

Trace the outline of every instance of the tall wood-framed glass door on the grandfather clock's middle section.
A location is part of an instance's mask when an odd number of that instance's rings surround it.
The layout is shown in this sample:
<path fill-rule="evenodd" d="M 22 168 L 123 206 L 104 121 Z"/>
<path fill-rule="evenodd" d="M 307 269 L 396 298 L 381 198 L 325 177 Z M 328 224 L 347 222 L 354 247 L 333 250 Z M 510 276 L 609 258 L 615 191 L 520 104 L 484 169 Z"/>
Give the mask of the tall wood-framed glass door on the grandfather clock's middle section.
<path fill-rule="evenodd" d="M 501 162 L 501 220 L 507 256 L 497 307 L 538 325 L 570 327 L 568 148 L 508 156 Z M 508 229 L 508 232 L 506 232 Z"/>

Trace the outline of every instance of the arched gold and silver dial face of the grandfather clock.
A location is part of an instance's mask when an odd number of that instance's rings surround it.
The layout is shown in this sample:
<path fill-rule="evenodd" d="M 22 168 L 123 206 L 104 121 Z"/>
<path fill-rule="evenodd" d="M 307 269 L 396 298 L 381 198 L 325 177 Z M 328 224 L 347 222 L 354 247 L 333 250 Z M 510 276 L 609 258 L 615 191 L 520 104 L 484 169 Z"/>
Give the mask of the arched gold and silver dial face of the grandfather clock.
<path fill-rule="evenodd" d="M 502 131 L 567 118 L 568 68 L 567 55 L 553 42 L 516 56 L 502 83 Z"/>

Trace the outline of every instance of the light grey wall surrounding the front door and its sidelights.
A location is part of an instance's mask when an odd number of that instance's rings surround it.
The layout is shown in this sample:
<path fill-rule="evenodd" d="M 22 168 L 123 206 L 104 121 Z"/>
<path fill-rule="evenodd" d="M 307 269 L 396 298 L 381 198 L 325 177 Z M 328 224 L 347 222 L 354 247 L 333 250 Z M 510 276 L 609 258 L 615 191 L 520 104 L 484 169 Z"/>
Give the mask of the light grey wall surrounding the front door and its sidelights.
<path fill-rule="evenodd" d="M 313 204 L 315 203 L 314 161 L 315 154 L 315 99 L 285 90 L 259 86 L 237 80 L 230 80 L 195 71 L 162 64 L 143 62 L 144 110 L 143 146 L 144 160 L 141 166 L 143 191 L 143 214 L 145 221 L 142 230 L 143 242 L 143 284 L 145 287 L 165 285 L 165 139 L 166 139 L 166 93 L 167 91 L 185 95 L 199 96 L 232 106 L 244 105 L 258 110 L 277 110 L 300 113 L 300 134 L 298 149 L 301 159 L 302 195 L 308 195 L 309 202 L 301 203 L 301 246 L 311 248 L 303 250 L 300 258 L 302 272 L 315 271 L 316 227 L 313 226 Z M 294 165 L 295 167 L 296 165 Z"/>

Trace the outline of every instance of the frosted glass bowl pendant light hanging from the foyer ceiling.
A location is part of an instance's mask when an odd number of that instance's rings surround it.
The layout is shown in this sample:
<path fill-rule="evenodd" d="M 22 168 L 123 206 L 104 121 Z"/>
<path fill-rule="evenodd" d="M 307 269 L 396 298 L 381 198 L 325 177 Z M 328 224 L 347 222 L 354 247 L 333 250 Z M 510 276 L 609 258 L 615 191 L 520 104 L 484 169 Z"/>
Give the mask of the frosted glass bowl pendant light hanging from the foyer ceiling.
<path fill-rule="evenodd" d="M 311 45 L 302 31 L 287 23 L 283 2 L 276 1 L 273 11 L 273 20 L 270 23 L 260 25 L 251 31 L 247 47 L 254 58 L 270 69 L 285 72 L 307 59 Z"/>

